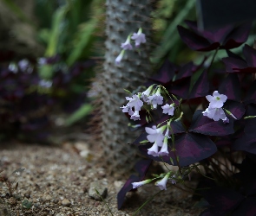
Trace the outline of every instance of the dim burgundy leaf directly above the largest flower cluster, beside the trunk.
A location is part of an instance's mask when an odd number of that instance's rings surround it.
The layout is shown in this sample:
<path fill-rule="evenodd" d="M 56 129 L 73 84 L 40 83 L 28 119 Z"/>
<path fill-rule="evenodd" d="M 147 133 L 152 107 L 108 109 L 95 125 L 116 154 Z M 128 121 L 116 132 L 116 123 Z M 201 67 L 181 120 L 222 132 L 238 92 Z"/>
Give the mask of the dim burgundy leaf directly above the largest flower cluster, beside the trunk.
<path fill-rule="evenodd" d="M 174 74 L 177 70 L 177 66 L 171 63 L 169 60 L 165 60 L 158 73 L 156 73 L 150 79 L 161 82 L 162 84 L 167 84 L 174 78 Z"/>

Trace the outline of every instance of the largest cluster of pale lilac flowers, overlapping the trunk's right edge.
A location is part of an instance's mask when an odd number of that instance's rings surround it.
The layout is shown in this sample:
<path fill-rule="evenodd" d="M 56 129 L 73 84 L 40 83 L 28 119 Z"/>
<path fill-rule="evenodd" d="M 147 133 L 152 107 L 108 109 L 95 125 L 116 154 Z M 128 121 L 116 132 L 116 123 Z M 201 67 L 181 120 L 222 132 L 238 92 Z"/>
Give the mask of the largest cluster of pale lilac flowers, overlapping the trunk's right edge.
<path fill-rule="evenodd" d="M 151 105 L 153 110 L 157 108 L 157 105 L 162 105 L 163 97 L 161 96 L 161 86 L 157 86 L 154 90 L 153 87 L 154 85 L 149 86 L 148 89 L 144 92 L 138 92 L 132 97 L 126 97 L 128 104 L 120 107 L 122 112 L 128 112 L 128 115 L 131 116 L 131 119 L 136 121 L 141 120 L 139 111 L 141 111 L 141 107 L 143 105 Z M 175 104 L 173 103 L 171 105 L 166 104 L 161 106 L 163 113 L 173 116 L 174 105 Z"/>

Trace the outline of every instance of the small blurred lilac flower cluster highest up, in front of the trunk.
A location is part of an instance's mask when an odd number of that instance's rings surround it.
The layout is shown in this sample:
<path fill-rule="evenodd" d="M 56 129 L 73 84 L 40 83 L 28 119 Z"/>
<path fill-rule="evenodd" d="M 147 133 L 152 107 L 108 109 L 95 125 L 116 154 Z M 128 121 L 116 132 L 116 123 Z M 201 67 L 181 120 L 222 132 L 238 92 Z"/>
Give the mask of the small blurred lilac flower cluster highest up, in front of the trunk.
<path fill-rule="evenodd" d="M 131 45 L 131 39 L 135 41 L 135 47 L 139 48 L 141 43 L 146 43 L 145 34 L 142 33 L 142 29 L 140 28 L 137 33 L 133 35 L 128 35 L 127 40 L 124 43 L 121 43 L 121 53 L 116 57 L 115 64 L 119 64 L 126 50 L 132 50 L 133 46 Z"/>

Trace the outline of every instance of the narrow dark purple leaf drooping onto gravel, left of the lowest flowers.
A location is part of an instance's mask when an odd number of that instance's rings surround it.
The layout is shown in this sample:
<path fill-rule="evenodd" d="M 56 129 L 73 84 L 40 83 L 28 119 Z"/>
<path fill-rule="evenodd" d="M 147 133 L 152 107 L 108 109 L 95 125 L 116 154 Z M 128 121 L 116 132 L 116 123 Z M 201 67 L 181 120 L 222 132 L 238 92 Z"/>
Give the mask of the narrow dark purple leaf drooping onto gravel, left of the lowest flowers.
<path fill-rule="evenodd" d="M 125 195 L 133 189 L 132 182 L 138 182 L 138 181 L 142 181 L 142 180 L 143 180 L 143 178 L 138 177 L 136 175 L 131 175 L 128 178 L 128 181 L 125 182 L 124 186 L 121 187 L 121 190 L 117 194 L 117 207 L 118 207 L 118 209 L 121 208 L 121 206 L 122 206 L 122 204 L 125 200 Z"/>

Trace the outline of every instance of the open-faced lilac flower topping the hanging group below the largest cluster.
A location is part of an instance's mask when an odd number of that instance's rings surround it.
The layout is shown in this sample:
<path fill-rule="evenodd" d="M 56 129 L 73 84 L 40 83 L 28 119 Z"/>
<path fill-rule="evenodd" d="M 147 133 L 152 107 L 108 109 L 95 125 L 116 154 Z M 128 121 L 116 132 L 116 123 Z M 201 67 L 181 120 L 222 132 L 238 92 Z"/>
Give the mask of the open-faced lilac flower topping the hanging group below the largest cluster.
<path fill-rule="evenodd" d="M 167 126 L 162 126 L 161 128 L 156 128 L 153 126 L 152 128 L 145 127 L 146 132 L 148 133 L 147 139 L 150 143 L 156 142 L 158 146 L 162 146 L 162 142 L 164 139 L 163 131 L 167 128 Z"/>

